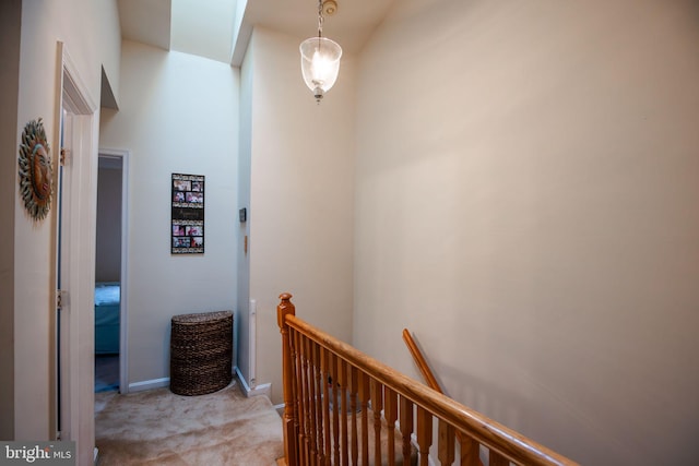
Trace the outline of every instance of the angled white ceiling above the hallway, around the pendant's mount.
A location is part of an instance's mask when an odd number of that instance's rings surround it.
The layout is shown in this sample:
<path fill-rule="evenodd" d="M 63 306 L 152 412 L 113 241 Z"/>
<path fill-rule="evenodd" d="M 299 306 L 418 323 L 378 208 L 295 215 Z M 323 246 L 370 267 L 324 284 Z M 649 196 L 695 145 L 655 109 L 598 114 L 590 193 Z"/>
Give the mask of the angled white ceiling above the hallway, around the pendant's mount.
<path fill-rule="evenodd" d="M 335 1 L 337 12 L 325 16 L 323 36 L 356 53 L 395 0 Z M 318 32 L 318 0 L 118 0 L 118 7 L 125 39 L 236 65 L 256 25 L 296 36 L 299 41 Z M 236 11 L 242 7 L 240 37 L 234 37 Z"/>

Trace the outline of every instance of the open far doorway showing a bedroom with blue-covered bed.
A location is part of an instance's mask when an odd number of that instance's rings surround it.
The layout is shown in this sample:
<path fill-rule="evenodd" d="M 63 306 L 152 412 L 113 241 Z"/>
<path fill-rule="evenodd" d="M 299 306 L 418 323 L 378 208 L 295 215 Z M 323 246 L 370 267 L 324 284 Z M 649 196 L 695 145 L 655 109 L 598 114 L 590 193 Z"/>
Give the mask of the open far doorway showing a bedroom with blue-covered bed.
<path fill-rule="evenodd" d="M 95 240 L 95 392 L 127 393 L 127 153 L 99 151 Z"/>

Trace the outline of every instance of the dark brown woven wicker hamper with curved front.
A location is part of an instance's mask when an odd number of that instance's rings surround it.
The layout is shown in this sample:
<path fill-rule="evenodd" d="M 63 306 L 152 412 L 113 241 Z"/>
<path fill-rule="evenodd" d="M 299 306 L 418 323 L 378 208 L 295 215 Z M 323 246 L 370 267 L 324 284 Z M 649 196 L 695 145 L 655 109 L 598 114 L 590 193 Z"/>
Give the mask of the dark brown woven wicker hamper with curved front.
<path fill-rule="evenodd" d="M 173 316 L 170 391 L 204 395 L 233 380 L 233 312 L 202 312 Z"/>

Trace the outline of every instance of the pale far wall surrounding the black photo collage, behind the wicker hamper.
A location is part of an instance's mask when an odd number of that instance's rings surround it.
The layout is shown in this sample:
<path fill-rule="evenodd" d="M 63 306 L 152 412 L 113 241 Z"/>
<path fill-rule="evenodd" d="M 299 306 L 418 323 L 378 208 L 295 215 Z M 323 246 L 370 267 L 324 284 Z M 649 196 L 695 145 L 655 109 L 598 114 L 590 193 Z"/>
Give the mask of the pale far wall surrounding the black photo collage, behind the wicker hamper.
<path fill-rule="evenodd" d="M 238 70 L 123 41 L 119 111 L 100 146 L 128 150 L 130 384 L 169 377 L 173 315 L 235 310 Z M 205 176 L 204 254 L 170 254 L 171 174 Z"/>

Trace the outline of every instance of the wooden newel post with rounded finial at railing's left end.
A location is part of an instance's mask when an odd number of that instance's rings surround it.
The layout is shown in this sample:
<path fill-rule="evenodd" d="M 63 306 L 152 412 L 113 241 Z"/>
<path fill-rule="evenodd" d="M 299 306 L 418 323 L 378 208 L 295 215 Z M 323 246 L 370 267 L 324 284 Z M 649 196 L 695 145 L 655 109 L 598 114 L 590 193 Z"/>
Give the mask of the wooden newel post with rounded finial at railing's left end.
<path fill-rule="evenodd" d="M 282 334 L 282 383 L 284 392 L 284 456 L 287 466 L 297 466 L 298 457 L 296 449 L 297 423 L 296 413 L 294 410 L 294 370 L 292 359 L 292 340 L 289 338 L 288 325 L 286 325 L 286 316 L 295 315 L 296 308 L 292 303 L 292 295 L 285 292 L 280 295 L 281 302 L 276 307 L 276 319 Z"/>

